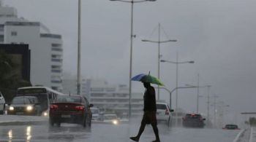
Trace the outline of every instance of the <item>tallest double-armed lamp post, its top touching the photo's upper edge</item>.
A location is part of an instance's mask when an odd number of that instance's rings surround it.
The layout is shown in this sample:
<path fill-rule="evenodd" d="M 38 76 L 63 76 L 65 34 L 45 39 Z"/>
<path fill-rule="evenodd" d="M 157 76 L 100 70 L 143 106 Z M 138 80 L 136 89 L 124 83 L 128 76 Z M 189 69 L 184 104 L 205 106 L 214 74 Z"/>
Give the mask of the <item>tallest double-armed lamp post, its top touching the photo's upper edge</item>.
<path fill-rule="evenodd" d="M 131 35 L 130 35 L 130 52 L 129 52 L 129 118 L 131 117 L 132 110 L 131 110 L 131 100 L 132 100 L 132 43 L 133 38 L 135 35 L 133 35 L 133 5 L 135 3 L 140 2 L 146 2 L 146 1 L 157 1 L 157 0 L 140 0 L 140 1 L 125 1 L 125 0 L 110 0 L 110 1 L 121 1 L 121 2 L 127 2 L 131 4 Z"/>

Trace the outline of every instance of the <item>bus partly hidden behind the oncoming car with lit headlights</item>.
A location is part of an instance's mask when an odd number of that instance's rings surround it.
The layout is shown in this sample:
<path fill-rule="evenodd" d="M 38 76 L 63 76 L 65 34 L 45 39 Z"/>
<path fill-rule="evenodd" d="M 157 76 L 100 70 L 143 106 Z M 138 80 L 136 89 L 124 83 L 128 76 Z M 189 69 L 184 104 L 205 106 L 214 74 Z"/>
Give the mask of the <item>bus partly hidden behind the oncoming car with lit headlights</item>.
<path fill-rule="evenodd" d="M 53 103 L 59 95 L 64 94 L 48 87 L 20 87 L 17 90 L 17 96 L 37 97 L 42 110 L 40 112 L 42 116 L 48 116 L 50 103 Z"/>

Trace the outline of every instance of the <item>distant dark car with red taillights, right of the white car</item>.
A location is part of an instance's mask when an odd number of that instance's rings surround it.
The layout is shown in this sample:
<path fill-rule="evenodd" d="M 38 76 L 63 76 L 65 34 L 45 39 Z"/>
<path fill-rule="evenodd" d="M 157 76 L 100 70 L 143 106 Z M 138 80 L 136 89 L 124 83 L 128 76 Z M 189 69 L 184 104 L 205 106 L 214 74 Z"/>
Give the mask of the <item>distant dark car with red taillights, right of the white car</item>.
<path fill-rule="evenodd" d="M 184 127 L 204 127 L 204 119 L 200 114 L 186 114 L 183 119 Z"/>

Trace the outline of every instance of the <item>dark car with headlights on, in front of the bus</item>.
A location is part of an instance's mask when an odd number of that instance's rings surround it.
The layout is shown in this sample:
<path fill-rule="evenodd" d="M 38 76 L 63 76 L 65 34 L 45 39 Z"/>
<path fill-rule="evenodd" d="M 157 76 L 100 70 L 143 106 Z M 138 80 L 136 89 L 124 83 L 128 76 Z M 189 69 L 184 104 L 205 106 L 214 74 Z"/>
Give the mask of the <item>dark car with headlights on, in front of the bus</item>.
<path fill-rule="evenodd" d="M 16 96 L 12 98 L 7 114 L 10 115 L 41 115 L 41 106 L 35 96 Z"/>

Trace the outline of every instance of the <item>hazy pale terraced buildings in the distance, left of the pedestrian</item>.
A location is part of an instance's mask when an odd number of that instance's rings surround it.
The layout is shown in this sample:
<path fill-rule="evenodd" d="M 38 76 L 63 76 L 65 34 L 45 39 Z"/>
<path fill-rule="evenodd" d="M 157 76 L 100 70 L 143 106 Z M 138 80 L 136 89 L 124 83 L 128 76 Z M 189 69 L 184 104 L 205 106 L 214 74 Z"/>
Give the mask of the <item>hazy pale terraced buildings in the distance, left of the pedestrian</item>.
<path fill-rule="evenodd" d="M 76 94 L 76 79 L 71 74 L 64 74 L 64 93 Z M 123 84 L 109 84 L 104 79 L 82 79 L 81 95 L 105 113 L 115 113 L 127 117 L 129 112 L 129 88 Z M 143 94 L 132 93 L 132 116 L 143 113 Z"/>

